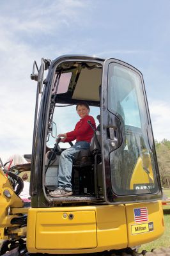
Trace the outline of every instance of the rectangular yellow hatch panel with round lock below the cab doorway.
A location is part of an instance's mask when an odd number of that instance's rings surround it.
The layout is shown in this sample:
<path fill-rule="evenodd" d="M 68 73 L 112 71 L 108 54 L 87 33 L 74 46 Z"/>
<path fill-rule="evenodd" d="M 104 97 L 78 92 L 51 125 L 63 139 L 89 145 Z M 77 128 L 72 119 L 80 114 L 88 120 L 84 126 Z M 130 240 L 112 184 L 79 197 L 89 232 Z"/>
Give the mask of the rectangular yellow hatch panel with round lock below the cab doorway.
<path fill-rule="evenodd" d="M 36 249 L 63 250 L 65 246 L 68 249 L 97 247 L 95 211 L 36 214 Z"/>

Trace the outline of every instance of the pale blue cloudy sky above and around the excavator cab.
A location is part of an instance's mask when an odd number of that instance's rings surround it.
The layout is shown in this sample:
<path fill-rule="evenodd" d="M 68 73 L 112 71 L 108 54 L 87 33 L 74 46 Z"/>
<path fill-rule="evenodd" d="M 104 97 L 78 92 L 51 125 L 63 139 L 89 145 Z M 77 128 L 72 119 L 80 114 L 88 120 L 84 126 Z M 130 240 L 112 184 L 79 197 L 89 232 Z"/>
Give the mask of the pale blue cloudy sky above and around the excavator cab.
<path fill-rule="evenodd" d="M 144 77 L 156 140 L 170 140 L 169 0 L 0 0 L 0 157 L 31 154 L 33 61 L 117 58 Z"/>

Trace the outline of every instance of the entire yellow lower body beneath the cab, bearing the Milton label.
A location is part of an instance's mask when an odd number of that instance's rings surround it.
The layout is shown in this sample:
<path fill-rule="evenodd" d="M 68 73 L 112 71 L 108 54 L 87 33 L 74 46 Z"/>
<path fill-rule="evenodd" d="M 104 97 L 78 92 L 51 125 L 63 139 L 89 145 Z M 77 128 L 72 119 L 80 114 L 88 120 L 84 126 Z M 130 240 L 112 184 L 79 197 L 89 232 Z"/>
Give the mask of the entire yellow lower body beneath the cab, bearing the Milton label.
<path fill-rule="evenodd" d="M 148 221 L 140 223 L 141 226 L 136 228 L 134 209 L 142 207 L 147 208 Z M 27 250 L 30 253 L 53 254 L 118 250 L 153 241 L 163 232 L 164 219 L 160 202 L 30 208 L 27 218 Z"/>

